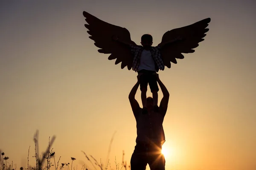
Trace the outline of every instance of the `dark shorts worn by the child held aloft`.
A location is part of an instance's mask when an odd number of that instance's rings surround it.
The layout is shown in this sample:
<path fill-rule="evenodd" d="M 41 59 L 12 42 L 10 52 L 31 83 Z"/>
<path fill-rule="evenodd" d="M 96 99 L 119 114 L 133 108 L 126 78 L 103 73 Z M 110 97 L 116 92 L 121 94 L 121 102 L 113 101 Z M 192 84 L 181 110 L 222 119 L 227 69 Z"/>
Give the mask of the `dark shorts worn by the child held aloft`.
<path fill-rule="evenodd" d="M 138 71 L 138 74 L 143 73 L 140 76 L 140 91 L 145 88 L 149 88 L 151 90 L 151 92 L 153 91 L 159 91 L 158 85 L 157 85 L 157 77 L 156 75 L 154 75 L 156 73 L 156 71 L 149 71 L 149 70 L 140 70 Z"/>

